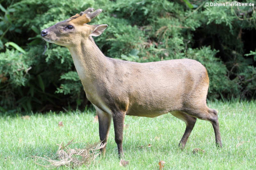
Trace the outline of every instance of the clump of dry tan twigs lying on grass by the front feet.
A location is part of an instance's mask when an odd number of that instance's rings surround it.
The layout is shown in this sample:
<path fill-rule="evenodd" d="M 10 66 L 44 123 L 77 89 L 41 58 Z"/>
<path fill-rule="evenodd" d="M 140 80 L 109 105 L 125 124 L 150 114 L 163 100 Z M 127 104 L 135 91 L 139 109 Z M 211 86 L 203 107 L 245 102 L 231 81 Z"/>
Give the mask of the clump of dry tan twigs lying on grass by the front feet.
<path fill-rule="evenodd" d="M 68 145 L 78 143 L 73 142 L 74 139 L 68 142 L 65 146 L 63 146 L 63 143 L 57 144 L 59 145 L 59 149 L 57 151 L 57 160 L 50 159 L 49 157 L 44 155 L 43 157 L 34 156 L 35 163 L 40 166 L 44 166 L 46 168 L 56 168 L 60 166 L 67 166 L 70 168 L 75 168 L 81 165 L 90 165 L 92 161 L 100 154 L 100 148 L 103 148 L 106 146 L 105 144 L 97 143 L 87 146 L 84 149 L 79 148 L 70 148 Z M 48 165 L 42 165 L 37 163 L 38 160 L 45 160 L 49 162 Z"/>

